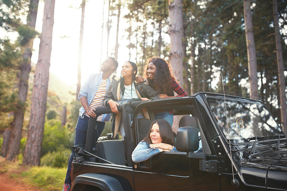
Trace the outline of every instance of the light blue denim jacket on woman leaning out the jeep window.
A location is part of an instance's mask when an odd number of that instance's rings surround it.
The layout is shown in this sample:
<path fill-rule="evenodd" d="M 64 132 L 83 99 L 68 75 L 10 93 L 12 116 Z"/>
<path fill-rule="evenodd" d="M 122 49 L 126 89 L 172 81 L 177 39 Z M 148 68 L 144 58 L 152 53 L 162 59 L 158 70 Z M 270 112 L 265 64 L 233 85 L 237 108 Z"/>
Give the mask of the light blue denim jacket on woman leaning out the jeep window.
<path fill-rule="evenodd" d="M 135 147 L 135 150 L 131 154 L 131 159 L 135 162 L 142 162 L 145 160 L 148 160 L 152 156 L 162 152 L 163 150 L 161 148 L 153 148 L 150 147 L 150 144 L 147 142 L 139 142 L 137 146 Z M 178 152 L 177 149 L 173 146 L 172 149 L 170 149 L 171 152 Z"/>

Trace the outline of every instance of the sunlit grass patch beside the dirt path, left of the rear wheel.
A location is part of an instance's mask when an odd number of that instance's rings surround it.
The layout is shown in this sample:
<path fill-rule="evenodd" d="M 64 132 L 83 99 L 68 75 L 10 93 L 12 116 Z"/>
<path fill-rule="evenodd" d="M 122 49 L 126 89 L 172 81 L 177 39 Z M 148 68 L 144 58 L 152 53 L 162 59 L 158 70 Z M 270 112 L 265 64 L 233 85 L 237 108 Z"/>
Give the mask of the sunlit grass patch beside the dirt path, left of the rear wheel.
<path fill-rule="evenodd" d="M 28 171 L 21 172 L 25 182 L 33 184 L 43 190 L 59 190 L 65 180 L 66 168 L 32 167 Z"/>

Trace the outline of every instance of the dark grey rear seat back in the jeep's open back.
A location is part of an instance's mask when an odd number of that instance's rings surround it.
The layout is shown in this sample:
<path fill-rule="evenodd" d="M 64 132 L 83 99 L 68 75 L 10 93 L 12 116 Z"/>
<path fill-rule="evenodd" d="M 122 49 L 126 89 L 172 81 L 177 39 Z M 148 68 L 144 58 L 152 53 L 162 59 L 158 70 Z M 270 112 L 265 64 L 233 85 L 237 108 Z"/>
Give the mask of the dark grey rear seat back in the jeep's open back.
<path fill-rule="evenodd" d="M 97 143 L 97 155 L 117 165 L 125 165 L 123 140 L 106 140 Z M 99 162 L 105 163 L 99 159 Z"/>

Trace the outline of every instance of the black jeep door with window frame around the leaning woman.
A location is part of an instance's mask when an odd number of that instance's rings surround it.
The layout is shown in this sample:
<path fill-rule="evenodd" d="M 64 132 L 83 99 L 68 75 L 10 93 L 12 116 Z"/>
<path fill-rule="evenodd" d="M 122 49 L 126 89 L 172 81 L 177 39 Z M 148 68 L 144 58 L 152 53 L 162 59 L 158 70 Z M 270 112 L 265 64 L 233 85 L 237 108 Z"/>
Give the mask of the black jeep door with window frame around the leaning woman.
<path fill-rule="evenodd" d="M 186 97 L 154 101 L 152 107 L 160 108 L 164 105 L 165 108 L 172 106 L 179 109 L 182 105 L 182 108 L 193 108 L 193 116 L 196 118 L 197 108 L 194 103 L 194 98 Z M 147 103 L 146 108 L 151 109 L 148 106 Z M 179 113 L 189 114 L 181 112 L 180 109 Z M 141 128 L 141 124 L 136 122 L 134 136 L 136 144 L 141 140 L 139 138 Z M 187 158 L 184 152 L 162 152 L 146 161 L 133 162 L 133 180 L 135 190 L 220 190 L 220 176 L 217 173 L 200 171 L 199 159 Z"/>

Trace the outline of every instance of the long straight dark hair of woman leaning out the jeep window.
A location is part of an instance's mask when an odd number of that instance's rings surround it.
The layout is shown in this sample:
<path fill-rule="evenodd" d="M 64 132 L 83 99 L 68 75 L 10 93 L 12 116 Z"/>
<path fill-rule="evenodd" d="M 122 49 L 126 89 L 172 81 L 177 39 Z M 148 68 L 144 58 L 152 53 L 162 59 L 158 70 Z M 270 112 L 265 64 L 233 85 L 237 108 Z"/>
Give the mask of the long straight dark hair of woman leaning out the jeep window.
<path fill-rule="evenodd" d="M 146 135 L 143 141 L 149 144 L 152 144 L 152 140 L 150 139 L 150 132 L 151 132 L 153 124 L 158 124 L 158 127 L 160 129 L 160 138 L 162 139 L 162 143 L 166 143 L 166 144 L 174 146 L 175 144 L 174 138 L 177 136 L 177 134 L 172 131 L 169 122 L 167 122 L 167 120 L 164 120 L 164 119 L 157 119 L 154 122 L 152 122 L 152 125 L 150 126 L 150 131 L 148 132 L 148 134 Z"/>

